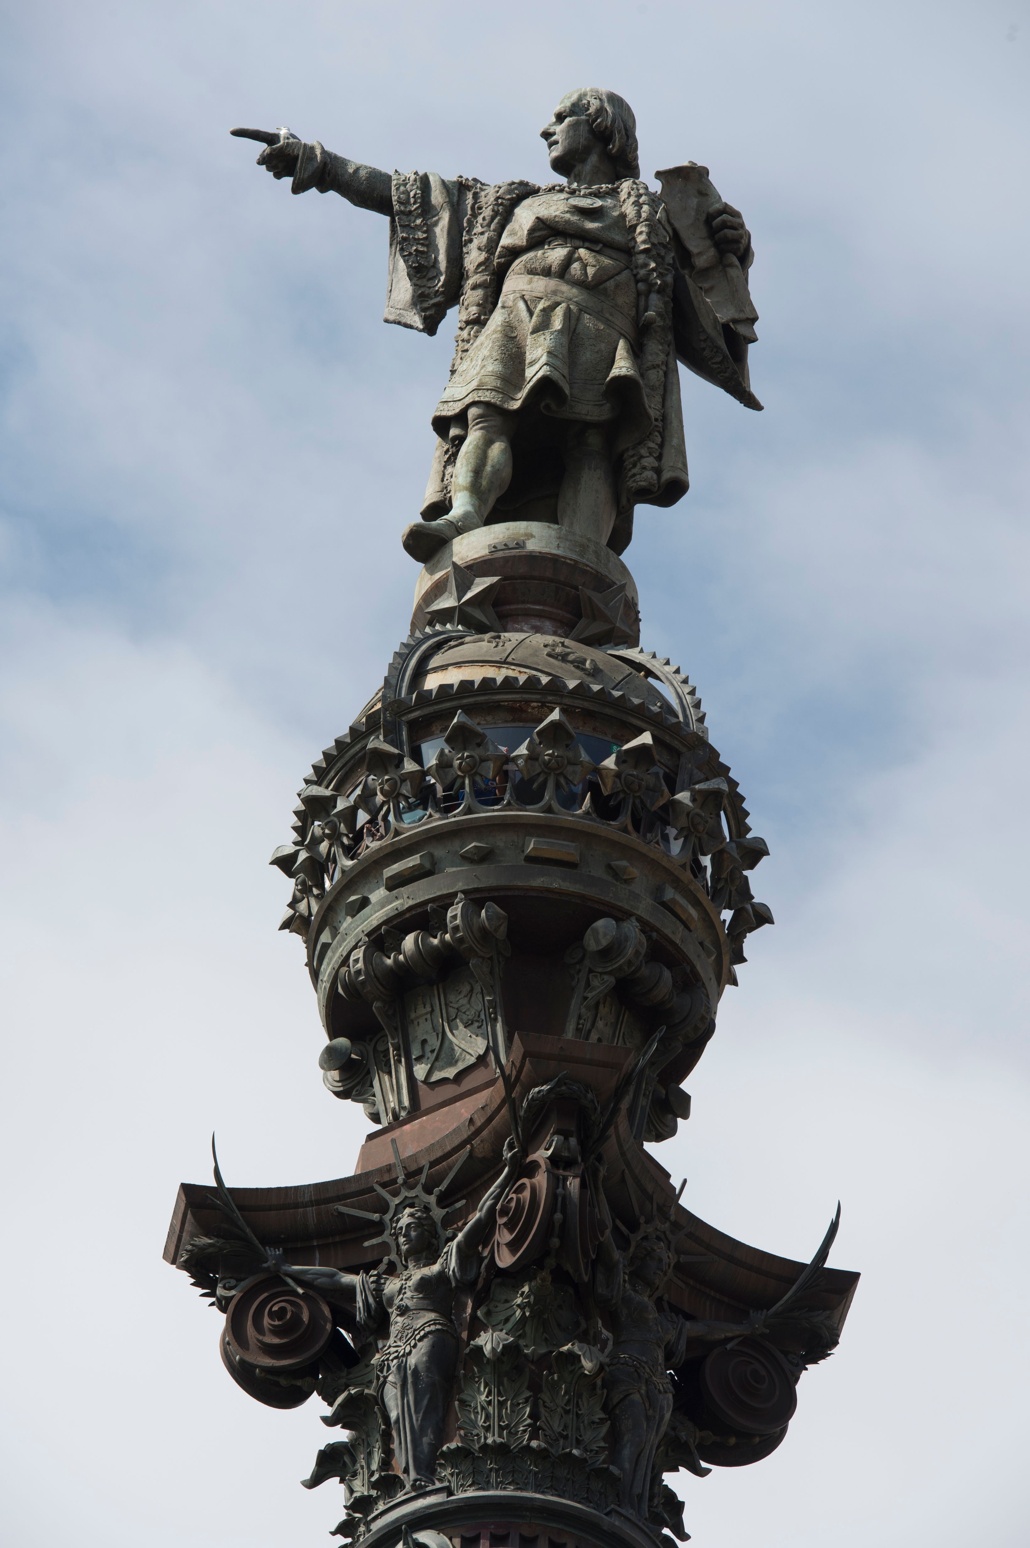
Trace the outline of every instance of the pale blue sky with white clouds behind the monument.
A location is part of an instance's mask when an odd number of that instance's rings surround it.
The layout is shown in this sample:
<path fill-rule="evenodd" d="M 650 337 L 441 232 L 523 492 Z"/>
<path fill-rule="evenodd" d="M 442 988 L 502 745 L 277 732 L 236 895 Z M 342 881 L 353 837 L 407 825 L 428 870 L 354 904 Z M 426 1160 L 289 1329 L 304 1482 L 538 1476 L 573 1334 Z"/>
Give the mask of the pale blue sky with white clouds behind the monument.
<path fill-rule="evenodd" d="M 738 1238 L 863 1279 L 779 1450 L 676 1480 L 699 1548 L 1022 1548 L 1030 6 L 148 0 L 3 8 L 0 824 L 11 1548 L 323 1543 L 315 1404 L 247 1399 L 161 1262 L 181 1180 L 339 1176 L 277 935 L 311 760 L 407 633 L 436 339 L 387 232 L 229 127 L 547 180 L 603 85 L 711 169 L 749 413 L 626 559 L 770 858 L 775 929 L 657 1147 Z"/>

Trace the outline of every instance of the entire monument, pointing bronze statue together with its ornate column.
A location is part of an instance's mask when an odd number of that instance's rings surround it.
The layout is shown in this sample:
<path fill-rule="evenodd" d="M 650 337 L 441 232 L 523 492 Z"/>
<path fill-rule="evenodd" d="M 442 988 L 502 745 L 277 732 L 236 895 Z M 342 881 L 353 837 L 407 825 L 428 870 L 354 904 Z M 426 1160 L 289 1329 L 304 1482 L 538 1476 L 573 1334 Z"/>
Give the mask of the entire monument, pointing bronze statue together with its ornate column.
<path fill-rule="evenodd" d="M 645 1150 L 772 924 L 769 853 L 617 557 L 687 488 L 676 358 L 747 384 L 750 237 L 704 167 L 639 181 L 611 93 L 544 130 L 568 184 L 393 178 L 289 130 L 294 192 L 390 217 L 387 319 L 458 307 L 411 632 L 305 777 L 292 885 L 354 1175 L 179 1189 L 165 1257 L 268 1407 L 317 1395 L 337 1533 L 382 1548 L 685 1539 L 663 1481 L 759 1461 L 858 1276 L 733 1241 Z"/>

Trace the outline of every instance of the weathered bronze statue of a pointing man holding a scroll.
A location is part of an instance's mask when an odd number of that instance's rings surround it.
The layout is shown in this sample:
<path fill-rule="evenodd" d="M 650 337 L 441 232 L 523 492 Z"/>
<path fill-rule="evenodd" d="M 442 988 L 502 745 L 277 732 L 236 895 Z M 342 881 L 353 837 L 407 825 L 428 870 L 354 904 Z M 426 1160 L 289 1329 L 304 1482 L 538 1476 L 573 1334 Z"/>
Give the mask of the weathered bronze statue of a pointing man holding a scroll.
<path fill-rule="evenodd" d="M 390 218 L 385 320 L 436 333 L 458 305 L 433 412 L 425 562 L 487 522 L 557 522 L 622 553 L 636 505 L 688 488 L 676 361 L 750 409 L 752 240 L 705 167 L 640 181 L 636 119 L 614 91 L 571 91 L 541 130 L 564 183 L 379 172 L 289 128 L 234 128 L 292 192 Z"/>

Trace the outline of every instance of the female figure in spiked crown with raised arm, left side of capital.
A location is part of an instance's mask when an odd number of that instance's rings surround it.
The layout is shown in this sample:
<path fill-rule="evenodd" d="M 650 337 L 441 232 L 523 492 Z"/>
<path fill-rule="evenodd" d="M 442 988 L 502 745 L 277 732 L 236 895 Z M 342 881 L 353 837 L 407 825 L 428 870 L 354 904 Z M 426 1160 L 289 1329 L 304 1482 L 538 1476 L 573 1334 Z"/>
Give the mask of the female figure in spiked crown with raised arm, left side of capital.
<path fill-rule="evenodd" d="M 399 1274 L 380 1269 L 345 1274 L 336 1268 L 286 1265 L 281 1255 L 269 1254 L 269 1268 L 348 1310 L 370 1337 L 387 1325 L 387 1342 L 376 1354 L 376 1395 L 390 1416 L 397 1468 L 411 1489 L 433 1481 L 458 1358 L 455 1291 L 473 1285 L 479 1276 L 479 1245 L 518 1170 L 520 1152 L 512 1139 L 504 1147 L 504 1163 L 475 1215 L 447 1246 L 427 1204 L 401 1206 L 391 1223 Z"/>

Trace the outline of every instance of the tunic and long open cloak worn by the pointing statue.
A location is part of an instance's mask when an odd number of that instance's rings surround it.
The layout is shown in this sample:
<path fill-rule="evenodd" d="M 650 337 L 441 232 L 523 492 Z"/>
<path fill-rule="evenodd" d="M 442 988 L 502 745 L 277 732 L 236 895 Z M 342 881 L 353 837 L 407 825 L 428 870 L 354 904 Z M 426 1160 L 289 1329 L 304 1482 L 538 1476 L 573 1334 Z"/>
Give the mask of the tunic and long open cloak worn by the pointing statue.
<path fill-rule="evenodd" d="M 319 144 L 305 150 L 311 155 L 302 158 L 294 190 L 325 189 L 331 181 L 326 161 L 334 158 Z M 628 189 L 639 190 L 637 206 L 642 194 L 651 214 L 657 212 L 671 268 L 660 296 L 648 294 L 634 272 L 640 234 L 626 218 Z M 711 195 L 718 198 L 713 189 Z M 694 220 L 694 228 L 704 229 L 704 220 Z M 696 248 L 693 228 L 680 221 L 680 229 Z M 710 238 L 707 248 L 704 262 Z M 749 249 L 744 276 L 750 262 Z M 676 220 L 640 183 L 540 189 L 394 172 L 384 320 L 435 334 L 455 305 L 459 320 L 450 381 L 433 412 L 438 441 L 422 517 L 433 520 L 450 509 L 453 464 L 473 402 L 520 415 L 512 483 L 492 522 L 555 519 L 569 423 L 603 426 L 611 437 L 619 517 L 609 545 L 617 553 L 633 534 L 634 505 L 680 500 L 690 480 L 676 361 L 761 409 L 747 375 L 753 327 L 721 317 L 718 296 L 713 307 L 694 283 L 694 268 Z M 745 279 L 741 283 L 745 291 Z M 654 328 L 650 339 L 648 327 Z M 544 514 L 547 502 L 551 514 Z"/>

